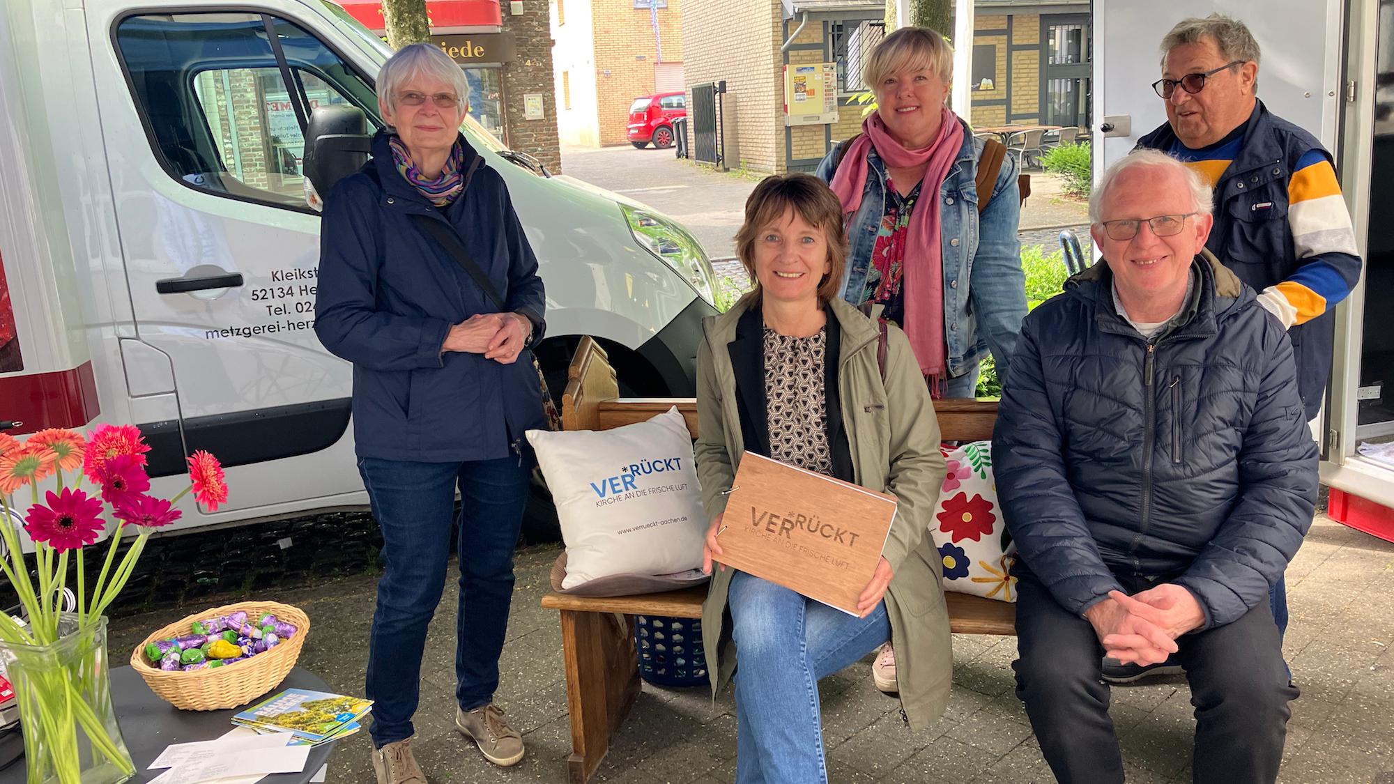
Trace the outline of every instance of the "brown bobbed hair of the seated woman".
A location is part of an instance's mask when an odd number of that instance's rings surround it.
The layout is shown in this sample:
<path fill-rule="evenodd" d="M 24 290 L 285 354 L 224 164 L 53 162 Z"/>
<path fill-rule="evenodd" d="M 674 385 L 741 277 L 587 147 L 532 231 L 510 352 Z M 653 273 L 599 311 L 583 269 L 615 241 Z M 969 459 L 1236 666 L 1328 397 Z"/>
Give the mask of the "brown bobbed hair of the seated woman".
<path fill-rule="evenodd" d="M 754 283 L 747 294 L 760 301 L 760 279 L 756 276 L 756 240 L 760 232 L 793 209 L 810 226 L 822 229 L 828 243 L 828 273 L 818 280 L 818 304 L 825 306 L 842 290 L 842 269 L 848 261 L 848 234 L 842 230 L 842 202 L 836 194 L 813 174 L 771 174 L 746 199 L 746 222 L 736 232 L 736 255 L 746 275 Z"/>

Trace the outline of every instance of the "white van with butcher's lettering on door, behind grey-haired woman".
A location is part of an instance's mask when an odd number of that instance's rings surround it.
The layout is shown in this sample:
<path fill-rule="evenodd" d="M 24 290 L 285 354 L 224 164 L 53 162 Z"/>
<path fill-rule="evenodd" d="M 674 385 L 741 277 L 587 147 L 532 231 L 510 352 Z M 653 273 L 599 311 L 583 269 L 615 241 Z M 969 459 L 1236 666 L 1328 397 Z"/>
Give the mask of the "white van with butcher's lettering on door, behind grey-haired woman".
<path fill-rule="evenodd" d="M 381 124 L 390 50 L 325 0 L 0 6 L 0 431 L 135 424 L 170 494 L 213 452 L 229 504 L 178 527 L 365 504 L 351 368 L 312 331 L 301 130 L 322 105 Z M 696 240 L 464 130 L 537 251 L 553 395 L 583 335 L 629 392 L 691 395 L 715 312 Z"/>

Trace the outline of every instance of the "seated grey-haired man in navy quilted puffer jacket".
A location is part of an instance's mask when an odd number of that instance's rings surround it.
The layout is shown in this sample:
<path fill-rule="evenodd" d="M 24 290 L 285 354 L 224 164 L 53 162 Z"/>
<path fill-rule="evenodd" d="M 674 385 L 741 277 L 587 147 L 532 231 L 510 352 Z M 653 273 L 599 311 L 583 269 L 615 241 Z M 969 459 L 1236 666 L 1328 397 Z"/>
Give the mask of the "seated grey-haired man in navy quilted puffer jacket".
<path fill-rule="evenodd" d="M 1312 523 L 1292 346 L 1204 250 L 1210 187 L 1138 151 L 1089 213 L 1104 262 L 1026 317 L 993 439 L 1019 561 L 1015 663 L 1062 783 L 1122 783 L 1101 656 L 1178 653 L 1195 780 L 1271 783 L 1289 684 L 1269 607 Z"/>

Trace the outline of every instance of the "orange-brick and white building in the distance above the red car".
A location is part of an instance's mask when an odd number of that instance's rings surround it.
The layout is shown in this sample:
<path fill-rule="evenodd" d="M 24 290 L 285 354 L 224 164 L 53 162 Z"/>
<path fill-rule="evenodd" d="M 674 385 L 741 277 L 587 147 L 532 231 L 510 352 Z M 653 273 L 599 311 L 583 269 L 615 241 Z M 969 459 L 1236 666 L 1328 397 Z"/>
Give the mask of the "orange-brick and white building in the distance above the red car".
<path fill-rule="evenodd" d="M 690 0 L 701 3 L 703 0 Z M 552 0 L 553 93 L 566 144 L 627 144 L 629 106 L 683 89 L 683 0 Z"/>

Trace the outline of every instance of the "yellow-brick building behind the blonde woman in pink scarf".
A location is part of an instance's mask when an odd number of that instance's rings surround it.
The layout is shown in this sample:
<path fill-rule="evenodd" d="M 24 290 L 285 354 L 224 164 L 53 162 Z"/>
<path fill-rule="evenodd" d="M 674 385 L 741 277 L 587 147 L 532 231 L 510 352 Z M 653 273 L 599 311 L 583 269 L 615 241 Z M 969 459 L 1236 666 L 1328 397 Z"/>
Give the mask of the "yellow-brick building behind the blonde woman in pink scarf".
<path fill-rule="evenodd" d="M 725 133 L 736 134 L 740 152 L 726 167 L 811 172 L 861 128 L 861 63 L 885 35 L 884 13 L 881 0 L 690 1 L 690 124 L 691 86 L 725 80 L 726 100 L 737 106 L 736 127 Z M 973 74 L 955 75 L 986 88 L 973 89 L 972 124 L 1087 126 L 1089 27 L 1089 0 L 977 0 Z M 836 120 L 788 124 L 785 67 L 821 63 L 836 64 Z"/>

